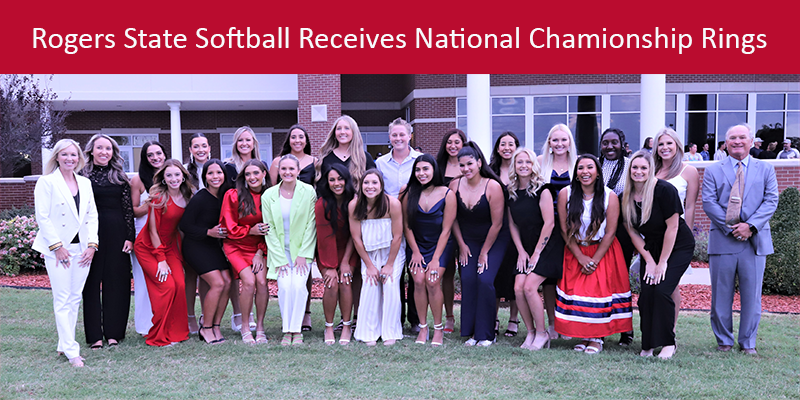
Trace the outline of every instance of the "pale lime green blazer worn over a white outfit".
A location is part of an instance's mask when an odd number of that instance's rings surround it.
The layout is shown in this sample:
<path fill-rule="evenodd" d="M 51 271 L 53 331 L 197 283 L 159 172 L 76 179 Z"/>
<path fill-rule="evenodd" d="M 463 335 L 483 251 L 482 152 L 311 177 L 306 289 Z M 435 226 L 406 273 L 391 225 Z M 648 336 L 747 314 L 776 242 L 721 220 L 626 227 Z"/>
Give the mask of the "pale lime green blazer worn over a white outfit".
<path fill-rule="evenodd" d="M 311 185 L 297 181 L 289 211 L 289 253 L 292 260 L 305 257 L 308 264 L 314 259 L 317 244 L 317 223 L 314 216 L 316 192 Z M 269 224 L 267 241 L 268 279 L 278 278 L 278 269 L 289 263 L 284 249 L 283 214 L 280 203 L 280 184 L 275 185 L 261 196 L 261 215 Z"/>

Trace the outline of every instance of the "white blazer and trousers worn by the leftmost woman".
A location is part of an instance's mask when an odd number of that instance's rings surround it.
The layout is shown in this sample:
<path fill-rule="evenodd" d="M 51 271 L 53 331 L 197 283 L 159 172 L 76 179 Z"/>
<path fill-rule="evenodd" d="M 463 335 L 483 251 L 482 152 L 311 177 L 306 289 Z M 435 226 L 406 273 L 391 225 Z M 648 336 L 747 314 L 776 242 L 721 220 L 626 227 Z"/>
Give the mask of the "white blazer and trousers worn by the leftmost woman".
<path fill-rule="evenodd" d="M 78 308 L 83 298 L 83 286 L 89 275 L 89 266 L 78 265 L 89 244 L 97 245 L 97 206 L 91 182 L 73 173 L 78 183 L 78 200 L 70 193 L 60 169 L 43 175 L 36 182 L 34 202 L 39 232 L 33 249 L 42 253 L 53 293 L 53 311 L 58 330 L 58 351 L 67 358 L 80 357 L 80 346 L 75 341 Z M 72 243 L 78 236 L 79 243 Z M 55 250 L 62 247 L 69 252 L 69 267 L 56 259 Z"/>

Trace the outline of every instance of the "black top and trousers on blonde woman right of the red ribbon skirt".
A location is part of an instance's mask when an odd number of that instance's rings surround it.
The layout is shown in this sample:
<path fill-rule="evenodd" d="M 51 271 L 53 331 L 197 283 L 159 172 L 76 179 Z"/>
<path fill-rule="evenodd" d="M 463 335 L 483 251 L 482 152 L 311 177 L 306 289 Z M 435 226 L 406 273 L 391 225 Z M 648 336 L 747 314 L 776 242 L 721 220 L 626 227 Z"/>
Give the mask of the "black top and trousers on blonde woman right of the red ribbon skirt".
<path fill-rule="evenodd" d="M 638 231 L 644 236 L 644 248 L 658 262 L 664 244 L 664 233 L 667 230 L 666 220 L 673 215 L 683 213 L 683 204 L 678 197 L 678 190 L 669 182 L 659 179 L 653 193 L 653 208 L 650 218 Z M 637 203 L 636 216 L 641 219 L 642 210 Z M 641 315 L 642 349 L 649 350 L 660 346 L 675 344 L 675 302 L 672 293 L 680 283 L 683 273 L 692 261 L 694 254 L 694 236 L 686 221 L 678 221 L 678 234 L 675 245 L 667 260 L 666 278 L 658 285 L 648 285 L 642 279 L 639 295 L 639 314 Z M 644 269 L 641 273 L 644 276 Z"/>

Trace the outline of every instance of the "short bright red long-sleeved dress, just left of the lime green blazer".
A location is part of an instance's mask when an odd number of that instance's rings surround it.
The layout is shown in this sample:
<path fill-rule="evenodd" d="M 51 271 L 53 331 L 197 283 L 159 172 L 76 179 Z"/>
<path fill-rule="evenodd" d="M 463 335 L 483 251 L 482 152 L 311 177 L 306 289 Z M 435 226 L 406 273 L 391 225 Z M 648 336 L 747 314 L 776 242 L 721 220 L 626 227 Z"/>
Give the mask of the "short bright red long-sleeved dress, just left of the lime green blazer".
<path fill-rule="evenodd" d="M 219 224 L 228 230 L 228 238 L 222 241 L 222 250 L 233 267 L 233 279 L 239 279 L 239 272 L 253 265 L 253 257 L 258 250 L 267 254 L 267 242 L 263 236 L 249 235 L 250 228 L 264 222 L 261 217 L 261 194 L 250 192 L 253 196 L 256 214 L 239 217 L 239 194 L 236 189 L 225 192 Z"/>

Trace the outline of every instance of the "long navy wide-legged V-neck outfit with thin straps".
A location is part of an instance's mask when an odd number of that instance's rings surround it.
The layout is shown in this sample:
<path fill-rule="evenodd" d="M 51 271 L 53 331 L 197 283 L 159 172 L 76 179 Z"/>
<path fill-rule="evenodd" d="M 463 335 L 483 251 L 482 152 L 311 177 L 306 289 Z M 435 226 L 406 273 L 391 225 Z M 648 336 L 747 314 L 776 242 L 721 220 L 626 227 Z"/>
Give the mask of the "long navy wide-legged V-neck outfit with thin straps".
<path fill-rule="evenodd" d="M 486 186 L 488 185 L 487 181 Z M 498 235 L 489 250 L 489 266 L 482 274 L 478 274 L 478 256 L 492 226 L 492 211 L 486 198 L 486 186 L 483 188 L 483 195 L 471 209 L 467 208 L 459 191 L 456 191 L 456 218 L 461 236 L 472 254 L 467 265 L 461 268 L 461 336 L 472 336 L 475 340 L 494 339 L 494 321 L 497 319 L 494 279 L 508 246 L 507 241 Z"/>

